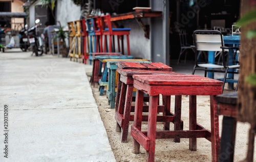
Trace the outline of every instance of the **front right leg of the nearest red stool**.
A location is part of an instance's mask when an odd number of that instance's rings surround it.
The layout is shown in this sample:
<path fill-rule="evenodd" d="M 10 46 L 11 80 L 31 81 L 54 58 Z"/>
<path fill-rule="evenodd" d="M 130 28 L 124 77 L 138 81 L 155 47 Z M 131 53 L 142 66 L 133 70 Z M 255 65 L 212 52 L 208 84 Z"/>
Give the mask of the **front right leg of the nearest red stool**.
<path fill-rule="evenodd" d="M 219 116 L 216 96 L 210 96 L 211 161 L 218 161 L 220 153 Z"/>

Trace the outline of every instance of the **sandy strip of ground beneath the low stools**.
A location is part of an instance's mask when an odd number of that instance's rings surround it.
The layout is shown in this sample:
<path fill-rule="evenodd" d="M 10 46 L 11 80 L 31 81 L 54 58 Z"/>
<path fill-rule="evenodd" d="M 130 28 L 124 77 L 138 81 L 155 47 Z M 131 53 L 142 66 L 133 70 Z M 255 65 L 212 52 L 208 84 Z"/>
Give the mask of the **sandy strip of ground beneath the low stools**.
<path fill-rule="evenodd" d="M 88 77 L 90 79 L 90 77 Z M 110 109 L 106 95 L 99 96 L 98 86 L 91 86 L 93 95 L 98 104 L 99 113 L 104 123 L 110 145 L 114 152 L 116 161 L 144 161 L 145 150 L 141 147 L 140 154 L 133 153 L 133 138 L 130 134 L 127 143 L 121 143 L 121 133 L 116 132 L 115 109 Z M 171 103 L 174 103 L 172 97 Z M 174 106 L 172 106 L 172 111 Z M 197 97 L 197 122 L 210 130 L 210 103 L 209 96 Z M 184 121 L 183 130 L 188 130 L 188 97 L 182 96 L 182 120 Z M 222 130 L 222 116 L 220 120 L 220 133 Z M 130 122 L 131 126 L 132 122 Z M 142 129 L 146 128 L 146 122 L 143 123 Z M 248 129 L 250 125 L 247 123 L 238 122 L 236 148 L 234 152 L 234 161 L 241 161 L 246 157 L 248 146 Z M 158 130 L 163 130 L 163 124 L 157 124 Z M 173 124 L 170 125 L 173 129 Z M 256 146 L 256 144 L 254 144 Z M 255 150 L 255 148 L 254 148 Z M 181 139 L 180 143 L 173 142 L 173 139 L 157 139 L 155 161 L 211 161 L 211 144 L 206 139 L 197 140 L 197 151 L 188 149 L 188 139 Z M 254 151 L 254 160 L 256 161 L 256 152 Z"/>

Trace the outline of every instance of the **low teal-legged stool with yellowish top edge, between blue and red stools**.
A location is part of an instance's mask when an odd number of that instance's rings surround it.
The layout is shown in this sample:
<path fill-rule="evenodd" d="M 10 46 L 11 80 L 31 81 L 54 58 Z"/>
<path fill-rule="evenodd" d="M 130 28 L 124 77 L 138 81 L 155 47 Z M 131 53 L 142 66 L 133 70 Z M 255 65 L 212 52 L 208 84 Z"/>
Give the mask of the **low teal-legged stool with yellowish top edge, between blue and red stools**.
<path fill-rule="evenodd" d="M 110 108 L 115 108 L 115 97 L 116 97 L 116 85 L 117 85 L 117 79 L 118 75 L 116 75 L 116 69 L 117 69 L 117 63 L 118 62 L 136 62 L 136 63 L 151 63 L 147 59 L 105 59 L 103 60 L 103 63 L 106 63 L 106 67 L 109 69 L 109 79 L 108 79 L 108 89 L 106 90 L 106 97 L 109 99 Z"/>

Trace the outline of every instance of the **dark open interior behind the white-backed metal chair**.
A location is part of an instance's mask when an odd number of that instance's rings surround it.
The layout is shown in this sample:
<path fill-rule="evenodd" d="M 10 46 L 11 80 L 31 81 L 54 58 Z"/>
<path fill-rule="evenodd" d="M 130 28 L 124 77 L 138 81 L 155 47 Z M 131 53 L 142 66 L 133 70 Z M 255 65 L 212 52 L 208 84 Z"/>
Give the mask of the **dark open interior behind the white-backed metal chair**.
<path fill-rule="evenodd" d="M 197 29 L 213 30 L 214 26 L 231 28 L 239 18 L 239 8 L 240 1 L 231 0 L 169 1 L 169 10 L 172 13 L 170 17 L 170 59 L 179 57 L 179 29 L 186 31 L 187 42 L 193 45 L 192 34 Z M 194 60 L 193 51 L 188 52 L 187 60 Z"/>

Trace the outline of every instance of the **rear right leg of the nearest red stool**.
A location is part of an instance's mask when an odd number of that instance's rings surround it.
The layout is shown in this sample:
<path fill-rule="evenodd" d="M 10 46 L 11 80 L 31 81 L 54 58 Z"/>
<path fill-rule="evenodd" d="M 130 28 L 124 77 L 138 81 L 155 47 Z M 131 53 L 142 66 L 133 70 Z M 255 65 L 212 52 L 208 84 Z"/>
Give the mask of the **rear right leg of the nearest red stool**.
<path fill-rule="evenodd" d="M 197 130 L 197 96 L 189 96 L 189 130 Z M 197 138 L 189 139 L 189 150 L 197 151 Z"/>

